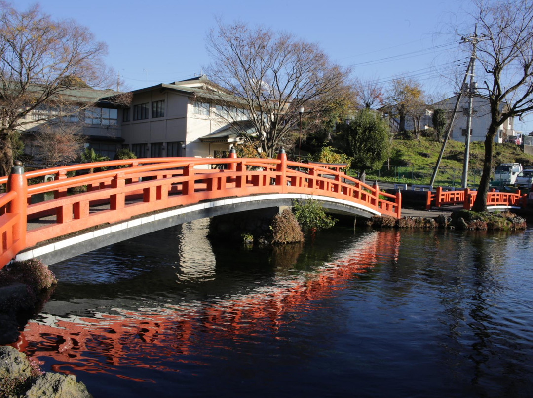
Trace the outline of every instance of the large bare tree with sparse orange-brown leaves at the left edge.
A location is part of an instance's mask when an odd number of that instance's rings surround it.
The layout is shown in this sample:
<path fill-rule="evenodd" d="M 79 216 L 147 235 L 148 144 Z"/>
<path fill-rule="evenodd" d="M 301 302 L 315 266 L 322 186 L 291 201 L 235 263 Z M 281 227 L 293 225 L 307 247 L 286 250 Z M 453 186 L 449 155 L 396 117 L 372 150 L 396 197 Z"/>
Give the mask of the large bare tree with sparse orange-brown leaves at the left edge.
<path fill-rule="evenodd" d="M 74 103 L 77 90 L 107 85 L 110 74 L 102 62 L 106 45 L 85 27 L 53 21 L 37 5 L 25 12 L 5 2 L 0 7 L 0 172 L 6 175 L 20 131 L 93 105 Z"/>

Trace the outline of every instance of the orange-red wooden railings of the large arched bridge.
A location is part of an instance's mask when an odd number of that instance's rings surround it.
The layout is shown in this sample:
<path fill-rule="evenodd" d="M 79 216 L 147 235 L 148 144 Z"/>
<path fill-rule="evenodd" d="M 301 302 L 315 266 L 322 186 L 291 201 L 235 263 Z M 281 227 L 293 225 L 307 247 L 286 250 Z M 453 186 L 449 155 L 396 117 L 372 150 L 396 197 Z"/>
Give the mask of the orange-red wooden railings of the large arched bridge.
<path fill-rule="evenodd" d="M 113 169 L 68 177 L 72 171 L 101 168 Z M 26 188 L 28 179 L 46 175 L 53 175 L 54 180 Z M 0 178 L 0 184 L 7 181 L 7 177 Z M 369 186 L 338 171 L 287 161 L 285 153 L 277 159 L 239 159 L 232 154 L 227 159 L 158 157 L 85 163 L 12 174 L 9 181 L 0 202 L 0 209 L 4 209 L 0 216 L 3 237 L 0 269 L 23 248 L 49 239 L 224 197 L 272 193 L 322 195 L 383 215 L 399 218 L 401 214 L 400 193 L 387 194 L 377 184 Z M 67 190 L 81 186 L 86 186 L 87 191 L 67 196 Z M 32 197 L 45 193 L 53 193 L 53 198 L 32 203 Z M 95 209 L 97 205 L 107 207 Z M 27 220 L 43 217 L 48 217 L 46 224 L 26 230 Z"/>

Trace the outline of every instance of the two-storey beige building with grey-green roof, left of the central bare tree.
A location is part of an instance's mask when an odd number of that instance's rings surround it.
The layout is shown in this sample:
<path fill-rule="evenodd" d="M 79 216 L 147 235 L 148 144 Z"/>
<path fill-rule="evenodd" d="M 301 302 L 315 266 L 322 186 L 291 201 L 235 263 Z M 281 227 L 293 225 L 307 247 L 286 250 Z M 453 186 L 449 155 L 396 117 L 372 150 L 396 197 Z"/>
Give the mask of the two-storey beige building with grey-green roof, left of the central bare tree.
<path fill-rule="evenodd" d="M 134 90 L 120 111 L 124 145 L 138 157 L 216 156 L 240 142 L 236 106 L 220 105 L 220 92 L 205 77 Z M 217 93 L 215 93 L 217 92 Z"/>

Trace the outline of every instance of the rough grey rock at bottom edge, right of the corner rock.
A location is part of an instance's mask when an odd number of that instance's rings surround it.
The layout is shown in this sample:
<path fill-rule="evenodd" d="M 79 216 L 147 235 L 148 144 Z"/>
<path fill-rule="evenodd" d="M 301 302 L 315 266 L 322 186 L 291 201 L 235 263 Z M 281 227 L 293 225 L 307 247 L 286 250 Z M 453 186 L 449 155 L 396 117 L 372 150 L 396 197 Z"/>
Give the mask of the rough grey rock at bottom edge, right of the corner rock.
<path fill-rule="evenodd" d="M 85 384 L 76 382 L 76 377 L 72 375 L 60 375 L 57 373 L 46 373 L 35 380 L 25 398 L 90 398 Z"/>

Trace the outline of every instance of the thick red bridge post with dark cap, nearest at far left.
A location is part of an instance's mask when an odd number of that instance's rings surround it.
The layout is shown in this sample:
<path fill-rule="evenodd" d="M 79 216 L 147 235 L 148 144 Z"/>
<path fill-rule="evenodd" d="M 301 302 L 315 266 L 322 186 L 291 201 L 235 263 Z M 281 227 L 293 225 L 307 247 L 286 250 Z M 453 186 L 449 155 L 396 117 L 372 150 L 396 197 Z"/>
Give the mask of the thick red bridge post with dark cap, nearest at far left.
<path fill-rule="evenodd" d="M 15 165 L 11 168 L 11 174 L 7 179 L 7 192 L 14 190 L 17 197 L 7 204 L 8 213 L 20 214 L 17 225 L 13 228 L 13 242 L 19 241 L 21 247 L 26 246 L 26 223 L 27 223 L 27 196 L 28 182 L 24 175 L 24 168 L 20 160 L 15 160 Z"/>

